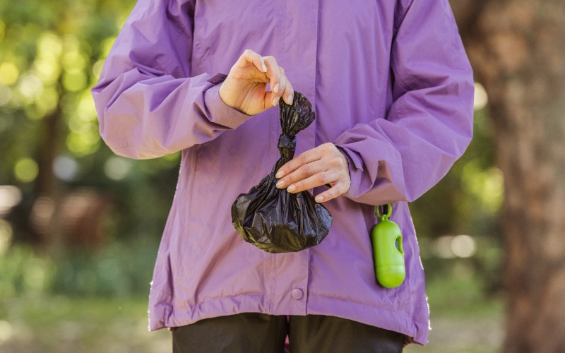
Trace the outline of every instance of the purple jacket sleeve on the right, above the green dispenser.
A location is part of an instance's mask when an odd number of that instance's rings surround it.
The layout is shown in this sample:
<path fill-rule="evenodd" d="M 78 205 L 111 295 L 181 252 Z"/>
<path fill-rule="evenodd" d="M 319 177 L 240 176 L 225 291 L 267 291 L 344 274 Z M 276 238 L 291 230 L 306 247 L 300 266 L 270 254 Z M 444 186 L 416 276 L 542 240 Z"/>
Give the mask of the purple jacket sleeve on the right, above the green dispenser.
<path fill-rule="evenodd" d="M 335 140 L 350 162 L 345 196 L 371 205 L 414 201 L 446 175 L 472 138 L 472 70 L 448 1 L 413 0 L 396 20 L 386 119 L 358 124 Z"/>

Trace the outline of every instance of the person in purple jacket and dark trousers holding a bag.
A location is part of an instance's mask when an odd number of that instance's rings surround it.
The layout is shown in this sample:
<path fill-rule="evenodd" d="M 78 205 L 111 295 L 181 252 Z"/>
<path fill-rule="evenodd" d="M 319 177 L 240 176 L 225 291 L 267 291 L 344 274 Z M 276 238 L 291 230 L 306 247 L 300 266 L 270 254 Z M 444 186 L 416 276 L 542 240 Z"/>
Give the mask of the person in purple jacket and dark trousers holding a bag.
<path fill-rule="evenodd" d="M 217 74 L 227 74 L 217 76 Z M 225 79 L 224 79 L 225 78 Z M 157 253 L 150 330 L 174 352 L 401 352 L 429 312 L 408 202 L 472 138 L 472 69 L 447 0 L 139 0 L 93 97 L 117 155 L 182 151 Z M 321 244 L 266 253 L 230 208 L 278 160 L 280 100 L 316 120 L 278 187 L 333 216 Z M 406 277 L 375 280 L 369 233 L 391 203 Z"/>

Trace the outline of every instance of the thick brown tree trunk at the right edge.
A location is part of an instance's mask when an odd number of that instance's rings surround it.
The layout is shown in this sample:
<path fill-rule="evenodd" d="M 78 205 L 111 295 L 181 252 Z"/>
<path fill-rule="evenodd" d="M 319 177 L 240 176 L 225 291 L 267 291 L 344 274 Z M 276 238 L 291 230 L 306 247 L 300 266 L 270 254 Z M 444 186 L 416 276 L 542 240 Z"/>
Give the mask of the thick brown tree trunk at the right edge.
<path fill-rule="evenodd" d="M 504 173 L 503 351 L 565 352 L 565 1 L 452 3 Z"/>

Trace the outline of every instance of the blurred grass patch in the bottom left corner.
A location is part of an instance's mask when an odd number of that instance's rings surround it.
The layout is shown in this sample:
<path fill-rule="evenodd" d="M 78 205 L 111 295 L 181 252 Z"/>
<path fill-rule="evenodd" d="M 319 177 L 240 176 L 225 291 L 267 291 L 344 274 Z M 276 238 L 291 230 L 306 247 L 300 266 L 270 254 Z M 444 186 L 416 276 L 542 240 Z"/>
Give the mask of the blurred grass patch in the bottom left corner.
<path fill-rule="evenodd" d="M 170 352 L 148 332 L 146 298 L 13 297 L 0 301 L 0 352 Z"/>

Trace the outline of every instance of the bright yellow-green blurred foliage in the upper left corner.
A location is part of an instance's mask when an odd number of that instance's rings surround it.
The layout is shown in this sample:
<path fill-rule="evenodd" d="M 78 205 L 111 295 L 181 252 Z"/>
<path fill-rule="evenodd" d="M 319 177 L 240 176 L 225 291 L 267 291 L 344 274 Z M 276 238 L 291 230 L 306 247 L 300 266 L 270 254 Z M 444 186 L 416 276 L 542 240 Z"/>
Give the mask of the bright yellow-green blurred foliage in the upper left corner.
<path fill-rule="evenodd" d="M 0 180 L 18 160 L 37 159 L 44 121 L 61 119 L 59 152 L 73 157 L 100 148 L 90 88 L 132 1 L 3 1 L 0 6 Z M 16 178 L 14 178 L 16 177 Z"/>

